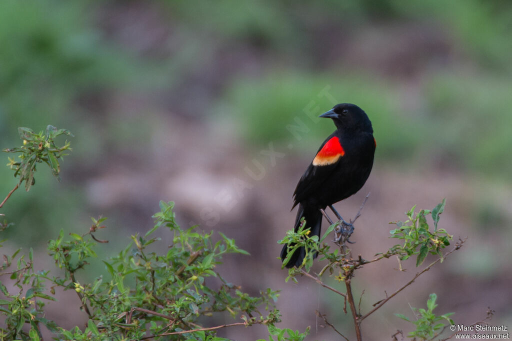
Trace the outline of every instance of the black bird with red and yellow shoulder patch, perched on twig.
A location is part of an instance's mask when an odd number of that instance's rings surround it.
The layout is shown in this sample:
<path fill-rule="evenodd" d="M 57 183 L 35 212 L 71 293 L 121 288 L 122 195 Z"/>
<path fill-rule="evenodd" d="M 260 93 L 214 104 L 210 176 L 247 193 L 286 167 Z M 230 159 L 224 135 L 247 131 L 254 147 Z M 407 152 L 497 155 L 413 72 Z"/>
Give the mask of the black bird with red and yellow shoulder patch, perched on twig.
<path fill-rule="evenodd" d="M 332 118 L 336 131 L 322 143 L 293 193 L 293 207 L 298 204 L 294 230 L 298 230 L 304 217 L 311 237 L 320 236 L 327 206 L 343 220 L 332 204 L 355 194 L 365 184 L 376 146 L 372 122 L 357 105 L 337 104 L 319 117 Z M 283 247 L 281 260 L 286 258 L 288 246 Z M 286 267 L 300 266 L 305 255 L 304 247 L 296 249 Z"/>

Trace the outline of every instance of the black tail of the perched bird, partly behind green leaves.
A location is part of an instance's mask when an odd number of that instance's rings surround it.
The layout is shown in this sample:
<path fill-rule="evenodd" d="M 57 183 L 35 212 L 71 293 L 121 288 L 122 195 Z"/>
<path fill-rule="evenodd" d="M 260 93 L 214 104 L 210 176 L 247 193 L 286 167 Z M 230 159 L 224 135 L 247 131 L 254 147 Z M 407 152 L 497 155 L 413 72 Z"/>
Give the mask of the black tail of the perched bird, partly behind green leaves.
<path fill-rule="evenodd" d="M 313 236 L 320 236 L 320 230 L 322 228 L 322 212 L 317 208 L 313 206 L 308 206 L 307 204 L 299 204 L 298 205 L 298 211 L 297 211 L 297 218 L 295 218 L 295 227 L 294 231 L 296 232 L 301 225 L 301 218 L 304 217 L 306 220 L 306 227 L 309 227 L 311 229 L 310 237 Z M 286 255 L 288 254 L 288 245 L 283 246 L 283 250 L 281 250 L 281 260 L 284 260 L 286 258 Z M 304 260 L 304 257 L 306 257 L 306 250 L 304 247 L 300 247 L 296 249 L 288 264 L 286 264 L 287 268 L 291 268 L 293 266 L 300 266 L 302 264 L 302 261 Z M 316 258 L 316 254 L 313 256 L 313 258 Z"/>

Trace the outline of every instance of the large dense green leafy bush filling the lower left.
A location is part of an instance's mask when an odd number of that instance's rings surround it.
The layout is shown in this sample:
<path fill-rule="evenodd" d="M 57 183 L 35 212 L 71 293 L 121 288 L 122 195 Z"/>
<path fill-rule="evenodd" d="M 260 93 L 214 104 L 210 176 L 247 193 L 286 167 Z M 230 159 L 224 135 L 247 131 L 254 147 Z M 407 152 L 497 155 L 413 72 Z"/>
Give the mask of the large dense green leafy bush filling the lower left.
<path fill-rule="evenodd" d="M 154 215 L 155 226 L 143 236 L 132 236 L 132 242 L 109 260 L 103 260 L 108 278 L 98 276 L 78 282 L 75 274 L 96 258 L 94 237 L 105 218 L 93 219 L 87 233 L 63 231 L 50 240 L 48 251 L 55 265 L 64 270 L 62 276 L 50 276 L 49 271 L 35 271 L 32 252 L 29 261 L 18 257 L 16 270 L 4 272 L 18 256 L 16 251 L 6 258 L 0 275 L 10 274 L 19 290 L 11 293 L 4 284 L 0 289 L 6 299 L 0 301 L 0 312 L 6 316 L 6 327 L 0 329 L 6 338 L 30 339 L 39 335 L 40 324 L 45 325 L 60 339 L 140 339 L 154 335 L 156 339 L 186 330 L 200 329 L 205 317 L 228 314 L 243 322 L 234 325 L 267 325 L 270 335 L 279 340 L 302 340 L 306 333 L 274 326 L 280 313 L 274 304 L 277 291 L 261 290 L 257 296 L 243 292 L 216 271 L 221 259 L 229 253 L 247 254 L 232 239 L 222 233 L 217 242 L 212 232 L 205 233 L 197 226 L 182 230 L 175 221 L 173 202 L 160 202 L 160 212 Z M 157 244 L 156 232 L 166 227 L 173 235 L 173 244 L 167 250 Z M 100 241 L 104 242 L 104 241 Z M 206 283 L 208 278 L 216 279 Z M 56 288 L 74 290 L 81 308 L 88 314 L 87 327 L 67 330 L 44 316 L 46 301 L 55 301 Z M 49 291 L 49 292 L 48 292 Z M 266 314 L 261 309 L 267 310 Z M 209 318 L 211 319 L 211 318 Z M 30 329 L 24 328 L 26 325 Z M 220 340 L 216 330 L 181 333 L 187 339 Z M 287 336 L 285 336 L 285 334 Z M 176 336 L 178 337 L 178 336 Z"/>

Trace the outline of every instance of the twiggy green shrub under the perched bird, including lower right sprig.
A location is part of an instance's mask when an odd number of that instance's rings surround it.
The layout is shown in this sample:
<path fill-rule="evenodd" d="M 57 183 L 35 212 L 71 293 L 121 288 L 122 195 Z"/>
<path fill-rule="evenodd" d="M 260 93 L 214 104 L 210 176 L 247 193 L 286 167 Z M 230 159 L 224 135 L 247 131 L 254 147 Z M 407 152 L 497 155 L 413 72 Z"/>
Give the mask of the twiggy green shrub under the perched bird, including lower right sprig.
<path fill-rule="evenodd" d="M 446 255 L 452 253 L 455 250 L 458 250 L 464 243 L 464 241 L 460 241 L 455 245 L 453 250 L 447 253 L 443 253 L 443 249 L 450 245 L 450 241 L 452 240 L 452 236 L 450 236 L 445 229 L 438 227 L 440 215 L 444 211 L 445 204 L 446 200 L 443 199 L 432 210 L 421 209 L 418 212 L 415 211 L 416 205 L 413 206 L 406 213 L 407 217 L 409 218 L 407 221 L 397 221 L 391 223 L 397 225 L 397 228 L 390 231 L 390 238 L 399 239 L 403 241 L 403 244 L 394 245 L 386 252 L 377 253 L 375 254 L 375 258 L 371 260 L 363 259 L 361 255 L 354 259 L 352 257 L 351 250 L 345 244 L 336 243 L 338 247 L 335 247 L 334 250 L 331 251 L 331 246 L 323 243 L 323 241 L 333 231 L 335 232 L 335 236 L 339 236 L 341 225 L 340 222 L 336 222 L 329 226 L 324 235 L 321 238 L 318 238 L 317 236 L 309 237 L 310 229 L 305 228 L 306 222 L 302 220 L 302 224 L 297 232 L 289 230 L 287 231 L 285 238 L 279 241 L 280 244 L 293 244 L 288 246 L 288 257 L 284 260 L 283 265 L 290 260 L 291 253 L 298 247 L 306 248 L 306 257 L 304 258 L 303 263 L 298 268 L 293 267 L 289 269 L 288 278 L 286 281 L 292 279 L 293 281 L 297 282 L 296 276 L 306 275 L 318 284 L 321 284 L 323 287 L 329 288 L 331 291 L 343 296 L 343 299 L 345 300 L 344 306 L 347 307 L 348 301 L 352 316 L 357 316 L 354 317 L 354 326 L 356 329 L 356 335 L 360 335 L 360 324 L 366 317 L 379 309 L 383 304 L 389 301 L 401 290 L 413 284 L 418 276 L 429 270 L 435 264 L 442 262 Z M 359 216 L 359 213 L 360 212 L 358 212 L 357 216 Z M 427 216 L 429 215 L 431 216 L 434 223 L 433 228 L 430 228 L 427 222 Z M 310 274 L 310 270 L 313 265 L 313 255 L 316 253 L 318 253 L 320 261 L 327 260 L 328 262 L 324 268 L 315 276 Z M 400 270 L 403 270 L 401 261 L 406 261 L 413 255 L 417 255 L 415 265 L 418 267 L 424 262 L 426 256 L 429 253 L 435 255 L 436 260 L 430 263 L 428 266 L 424 267 L 423 270 L 418 272 L 412 280 L 397 289 L 397 291 L 395 291 L 390 296 L 386 295 L 385 299 L 374 303 L 371 306 L 372 308 L 370 308 L 369 312 L 364 313 L 361 311 L 360 301 L 356 308 L 356 303 L 354 302 L 351 289 L 351 280 L 355 276 L 355 271 L 357 269 L 361 268 L 362 266 L 381 261 L 383 259 L 388 259 L 392 256 L 397 256 L 399 259 Z M 342 292 L 339 289 L 326 285 L 322 279 L 322 276 L 326 272 L 329 274 L 329 277 L 334 278 L 337 282 L 344 283 L 346 291 Z M 413 322 L 416 326 L 416 330 L 411 332 L 409 336 L 418 337 L 421 339 L 430 339 L 433 335 L 444 328 L 445 325 L 441 323 L 442 320 L 446 320 L 453 324 L 453 321 L 448 318 L 453 313 L 436 316 L 432 312 L 436 307 L 436 298 L 437 296 L 435 294 L 430 296 L 430 299 L 427 303 L 428 309 L 417 309 L 417 321 Z M 345 312 L 347 312 L 346 308 Z M 404 315 L 397 314 L 397 316 L 409 321 L 409 319 L 407 319 L 407 317 Z M 322 315 L 322 317 L 327 323 L 325 315 Z M 333 325 L 329 324 L 329 326 L 337 331 Z M 341 335 L 339 331 L 337 332 Z"/>

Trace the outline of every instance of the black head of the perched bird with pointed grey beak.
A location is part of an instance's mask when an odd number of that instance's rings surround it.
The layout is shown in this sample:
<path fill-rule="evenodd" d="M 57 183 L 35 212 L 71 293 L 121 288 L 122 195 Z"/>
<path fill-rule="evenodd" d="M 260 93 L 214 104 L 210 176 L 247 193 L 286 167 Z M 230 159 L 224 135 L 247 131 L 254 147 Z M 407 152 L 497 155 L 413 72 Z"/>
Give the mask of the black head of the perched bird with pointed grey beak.
<path fill-rule="evenodd" d="M 331 110 L 318 117 L 332 118 L 338 129 L 361 130 L 373 133 L 372 122 L 364 110 L 355 104 L 336 104 Z"/>

